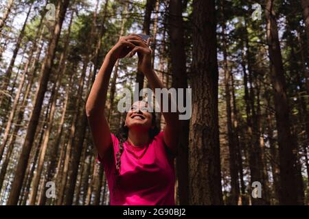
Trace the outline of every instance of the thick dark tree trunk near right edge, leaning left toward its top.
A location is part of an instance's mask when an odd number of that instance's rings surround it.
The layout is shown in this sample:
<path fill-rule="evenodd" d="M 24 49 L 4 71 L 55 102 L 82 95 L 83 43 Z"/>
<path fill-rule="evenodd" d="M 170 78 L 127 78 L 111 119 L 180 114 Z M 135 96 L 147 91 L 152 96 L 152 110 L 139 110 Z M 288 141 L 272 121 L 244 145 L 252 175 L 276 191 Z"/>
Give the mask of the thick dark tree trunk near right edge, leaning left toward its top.
<path fill-rule="evenodd" d="M 297 205 L 296 155 L 293 152 L 295 142 L 290 132 L 290 115 L 288 97 L 286 96 L 286 80 L 284 78 L 284 68 L 282 54 L 279 45 L 277 21 L 275 20 L 274 1 L 266 0 L 266 35 L 268 42 L 268 52 L 271 59 L 271 81 L 273 84 L 275 116 L 277 122 L 277 136 L 279 144 L 280 160 L 280 183 L 281 183 L 281 205 Z"/>

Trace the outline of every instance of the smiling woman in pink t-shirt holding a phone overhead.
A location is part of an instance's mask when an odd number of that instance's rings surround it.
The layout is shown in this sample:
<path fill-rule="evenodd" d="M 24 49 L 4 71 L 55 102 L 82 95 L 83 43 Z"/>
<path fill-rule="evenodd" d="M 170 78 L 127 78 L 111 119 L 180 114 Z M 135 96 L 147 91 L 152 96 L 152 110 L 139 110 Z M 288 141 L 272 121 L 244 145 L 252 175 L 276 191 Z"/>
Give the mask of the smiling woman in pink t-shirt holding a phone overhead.
<path fill-rule="evenodd" d="M 137 34 L 122 36 L 107 53 L 86 104 L 93 142 L 110 190 L 111 205 L 174 205 L 178 114 L 163 112 L 166 125 L 159 132 L 155 127 L 155 114 L 148 112 L 147 103 L 137 101 L 126 114 L 117 137 L 111 133 L 104 116 L 108 81 L 119 58 L 137 53 L 138 69 L 148 79 L 152 90 L 163 88 L 152 69 L 149 43 L 149 39 L 145 42 Z"/>

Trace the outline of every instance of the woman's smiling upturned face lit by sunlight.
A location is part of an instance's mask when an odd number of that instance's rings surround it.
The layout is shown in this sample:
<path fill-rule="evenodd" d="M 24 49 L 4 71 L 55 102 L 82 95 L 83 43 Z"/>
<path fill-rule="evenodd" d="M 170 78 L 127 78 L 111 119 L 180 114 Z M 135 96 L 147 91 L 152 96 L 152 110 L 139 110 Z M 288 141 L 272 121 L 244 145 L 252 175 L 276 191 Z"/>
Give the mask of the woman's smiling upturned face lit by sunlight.
<path fill-rule="evenodd" d="M 133 103 L 128 114 L 126 114 L 126 126 L 128 129 L 136 128 L 140 130 L 152 128 L 152 114 L 148 112 L 145 101 Z"/>

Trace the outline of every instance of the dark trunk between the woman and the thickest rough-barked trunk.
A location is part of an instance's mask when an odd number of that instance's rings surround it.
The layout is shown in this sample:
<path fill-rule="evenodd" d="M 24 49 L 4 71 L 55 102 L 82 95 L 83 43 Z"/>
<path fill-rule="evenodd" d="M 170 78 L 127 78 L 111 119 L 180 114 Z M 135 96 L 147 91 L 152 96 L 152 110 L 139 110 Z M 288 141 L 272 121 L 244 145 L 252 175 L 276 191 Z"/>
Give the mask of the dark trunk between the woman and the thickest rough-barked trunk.
<path fill-rule="evenodd" d="M 170 59 L 172 61 L 172 86 L 174 88 L 187 88 L 187 68 L 185 66 L 185 40 L 183 31 L 183 5 L 181 0 L 171 0 L 169 9 L 169 35 L 170 35 Z M 185 94 L 181 96 L 186 103 Z M 181 121 L 181 136 L 176 157 L 176 172 L 178 178 L 179 204 L 189 203 L 189 179 L 188 179 L 188 144 L 189 144 L 190 120 Z"/>

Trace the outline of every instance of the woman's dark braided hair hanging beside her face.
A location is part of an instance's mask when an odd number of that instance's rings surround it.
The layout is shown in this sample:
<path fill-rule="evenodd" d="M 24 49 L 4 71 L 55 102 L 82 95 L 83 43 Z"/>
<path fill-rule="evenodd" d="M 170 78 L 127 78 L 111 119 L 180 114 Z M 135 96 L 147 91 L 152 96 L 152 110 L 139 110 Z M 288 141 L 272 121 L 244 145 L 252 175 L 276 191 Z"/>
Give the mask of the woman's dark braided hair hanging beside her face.
<path fill-rule="evenodd" d="M 157 134 L 159 133 L 159 128 L 157 127 L 156 124 L 156 114 L 155 112 L 152 112 L 152 126 L 153 128 L 149 129 L 149 137 L 150 140 L 152 140 L 153 138 L 155 138 L 155 136 L 157 136 Z M 124 123 L 122 123 L 122 127 L 120 127 L 120 129 L 117 131 L 116 133 L 116 137 L 119 140 L 119 152 L 116 154 L 116 172 L 115 175 L 117 178 L 119 178 L 119 173 L 120 173 L 120 166 L 121 166 L 121 162 L 120 162 L 120 157 L 122 155 L 122 152 L 124 151 L 124 142 L 126 142 L 126 140 L 128 140 L 128 127 L 126 127 L 126 125 L 124 125 Z"/>

